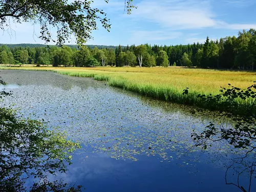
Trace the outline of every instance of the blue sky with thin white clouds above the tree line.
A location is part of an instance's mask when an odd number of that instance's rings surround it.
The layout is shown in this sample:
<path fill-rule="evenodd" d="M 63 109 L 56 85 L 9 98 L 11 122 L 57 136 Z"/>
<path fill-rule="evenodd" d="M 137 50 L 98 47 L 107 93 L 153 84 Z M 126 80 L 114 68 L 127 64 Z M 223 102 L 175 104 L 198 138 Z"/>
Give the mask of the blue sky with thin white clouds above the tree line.
<path fill-rule="evenodd" d="M 92 33 L 93 45 L 177 45 L 204 42 L 206 36 L 219 39 L 237 36 L 243 29 L 256 29 L 255 0 L 134 0 L 138 7 L 131 15 L 124 12 L 124 0 L 94 0 L 111 20 L 111 32 L 99 26 Z M 39 43 L 38 26 L 14 24 L 12 31 L 1 31 L 0 43 Z M 11 32 L 11 34 L 10 34 Z M 75 44 L 71 39 L 70 44 Z"/>

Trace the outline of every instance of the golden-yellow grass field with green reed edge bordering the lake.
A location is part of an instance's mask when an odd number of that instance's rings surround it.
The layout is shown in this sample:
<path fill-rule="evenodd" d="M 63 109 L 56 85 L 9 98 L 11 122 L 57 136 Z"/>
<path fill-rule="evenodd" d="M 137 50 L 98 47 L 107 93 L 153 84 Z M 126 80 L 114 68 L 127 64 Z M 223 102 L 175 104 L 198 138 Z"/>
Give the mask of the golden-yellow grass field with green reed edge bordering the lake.
<path fill-rule="evenodd" d="M 247 88 L 256 80 L 255 72 L 218 71 L 205 69 L 169 68 L 53 68 L 11 67 L 2 69 L 50 70 L 60 74 L 94 77 L 107 81 L 110 86 L 137 92 L 153 98 L 186 104 L 199 104 L 196 96 L 182 95 L 183 89 L 190 93 L 218 94 L 220 87 L 228 83 Z M 240 102 L 240 101 L 238 101 Z M 250 101 L 246 101 L 248 104 Z"/>

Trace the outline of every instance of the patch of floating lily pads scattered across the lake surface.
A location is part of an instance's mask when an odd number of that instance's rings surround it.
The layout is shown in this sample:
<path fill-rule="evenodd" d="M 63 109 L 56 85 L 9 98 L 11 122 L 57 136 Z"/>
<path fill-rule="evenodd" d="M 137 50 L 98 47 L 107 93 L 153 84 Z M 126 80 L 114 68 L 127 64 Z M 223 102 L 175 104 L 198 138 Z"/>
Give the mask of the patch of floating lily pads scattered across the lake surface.
<path fill-rule="evenodd" d="M 49 72 L 33 72 L 30 78 L 22 79 L 23 75 L 4 75 L 7 82 L 22 82 L 5 104 L 15 103 L 25 115 L 44 119 L 49 127 L 61 127 L 83 144 L 83 153 L 104 153 L 133 161 L 141 155 L 157 156 L 166 162 L 177 161 L 185 154 L 182 165 L 199 162 L 204 154 L 210 154 L 209 161 L 219 159 L 219 154 L 230 154 L 225 142 L 212 144 L 204 153 L 191 148 L 192 130 L 202 131 L 208 120 L 191 116 L 185 106 L 138 97 L 91 79 Z M 34 82 L 34 78 L 43 80 Z M 188 150 L 190 153 L 186 153 Z"/>

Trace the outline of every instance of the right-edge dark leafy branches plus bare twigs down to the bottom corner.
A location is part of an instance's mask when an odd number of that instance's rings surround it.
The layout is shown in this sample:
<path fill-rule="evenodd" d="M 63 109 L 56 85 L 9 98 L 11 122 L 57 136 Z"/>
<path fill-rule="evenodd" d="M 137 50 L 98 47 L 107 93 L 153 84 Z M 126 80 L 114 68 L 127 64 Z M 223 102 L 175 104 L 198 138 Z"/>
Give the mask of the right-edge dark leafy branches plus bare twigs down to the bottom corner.
<path fill-rule="evenodd" d="M 228 88 L 221 88 L 218 95 L 202 95 L 197 97 L 205 102 L 205 107 L 208 112 L 202 109 L 192 111 L 193 114 L 199 113 L 200 116 L 209 117 L 216 116 L 220 118 L 221 122 L 226 122 L 228 118 L 229 123 L 209 123 L 205 130 L 197 133 L 193 130 L 191 138 L 196 143 L 195 146 L 201 146 L 207 149 L 212 146 L 212 142 L 225 140 L 234 148 L 231 149 L 235 154 L 243 152 L 241 157 L 234 158 L 230 165 L 226 165 L 225 182 L 228 185 L 234 185 L 243 192 L 251 191 L 252 178 L 256 178 L 255 172 L 255 141 L 256 141 L 256 81 L 254 84 L 246 89 L 231 86 Z M 183 90 L 184 95 L 188 95 L 188 88 Z M 247 100 L 247 103 L 238 104 L 237 99 Z M 250 102 L 248 102 L 250 101 Z M 214 110 L 214 113 L 211 111 Z M 216 111 L 217 110 L 217 111 Z M 230 121 L 231 119 L 231 121 Z M 228 175 L 236 175 L 237 180 L 228 179 Z M 249 177 L 248 187 L 243 186 L 245 183 L 240 182 L 240 177 L 247 175 Z"/>

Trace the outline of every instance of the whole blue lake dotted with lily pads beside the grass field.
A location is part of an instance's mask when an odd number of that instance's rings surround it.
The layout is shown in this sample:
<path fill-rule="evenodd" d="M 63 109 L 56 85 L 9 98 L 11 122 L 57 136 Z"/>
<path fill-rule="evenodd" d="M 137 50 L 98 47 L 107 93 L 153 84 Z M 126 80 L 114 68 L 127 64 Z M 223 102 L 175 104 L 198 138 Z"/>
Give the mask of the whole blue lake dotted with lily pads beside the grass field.
<path fill-rule="evenodd" d="M 190 107 L 142 97 L 92 78 L 53 72 L 2 70 L 12 91 L 2 105 L 24 116 L 59 126 L 82 148 L 62 178 L 86 191 L 241 191 L 225 184 L 225 166 L 234 158 L 226 142 L 209 150 L 192 147 L 190 134 L 210 121 Z M 237 175 L 228 173 L 228 181 Z M 240 177 L 247 187 L 248 175 Z M 28 180 L 31 185 L 33 180 Z M 256 186 L 252 182 L 251 191 Z"/>

